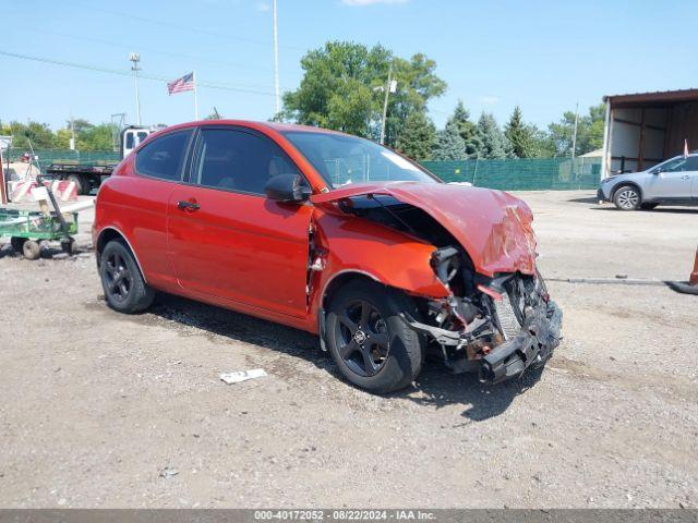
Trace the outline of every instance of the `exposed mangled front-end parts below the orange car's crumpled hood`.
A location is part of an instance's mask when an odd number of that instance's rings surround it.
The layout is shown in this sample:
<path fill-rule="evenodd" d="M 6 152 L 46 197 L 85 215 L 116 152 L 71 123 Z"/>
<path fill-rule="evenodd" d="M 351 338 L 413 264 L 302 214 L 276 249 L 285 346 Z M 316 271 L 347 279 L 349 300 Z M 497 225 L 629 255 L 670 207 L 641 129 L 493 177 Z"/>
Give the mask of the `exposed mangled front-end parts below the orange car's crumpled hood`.
<path fill-rule="evenodd" d="M 450 295 L 422 302 L 418 321 L 405 321 L 438 348 L 455 373 L 477 372 L 496 384 L 545 364 L 559 344 L 562 312 L 535 273 L 476 273 L 457 247 L 434 252 L 432 267 Z"/>

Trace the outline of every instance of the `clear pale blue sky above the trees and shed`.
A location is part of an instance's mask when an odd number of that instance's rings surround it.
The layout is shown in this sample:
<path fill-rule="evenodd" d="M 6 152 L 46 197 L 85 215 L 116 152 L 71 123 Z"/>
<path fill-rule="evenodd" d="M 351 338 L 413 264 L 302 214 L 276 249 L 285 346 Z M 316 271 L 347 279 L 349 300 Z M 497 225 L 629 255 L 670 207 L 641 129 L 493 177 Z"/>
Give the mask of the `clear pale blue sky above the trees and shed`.
<path fill-rule="evenodd" d="M 474 119 L 488 111 L 504 124 L 518 105 L 546 126 L 603 95 L 698 87 L 695 0 L 277 3 L 282 92 L 298 87 L 302 56 L 327 40 L 423 52 L 448 84 L 430 104 L 438 126 L 458 99 Z M 275 112 L 272 0 L 0 0 L 0 13 L 1 121 L 58 129 L 71 115 L 100 123 L 125 112 L 135 123 L 131 52 L 143 76 L 160 78 L 140 81 L 143 123 L 194 119 L 192 93 L 168 96 L 165 85 L 190 71 L 202 118 L 214 107 L 236 119 Z"/>

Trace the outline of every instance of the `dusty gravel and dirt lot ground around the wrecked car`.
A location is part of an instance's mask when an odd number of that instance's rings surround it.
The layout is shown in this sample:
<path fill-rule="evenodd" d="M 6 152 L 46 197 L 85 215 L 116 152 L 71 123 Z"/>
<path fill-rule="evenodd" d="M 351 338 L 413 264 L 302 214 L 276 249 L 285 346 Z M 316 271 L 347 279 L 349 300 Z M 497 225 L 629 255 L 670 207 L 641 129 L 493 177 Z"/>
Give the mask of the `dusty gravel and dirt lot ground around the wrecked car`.
<path fill-rule="evenodd" d="M 698 209 L 521 196 L 549 279 L 688 276 Z M 4 256 L 0 506 L 698 507 L 698 297 L 549 287 L 565 340 L 542 374 L 483 387 L 429 364 L 382 398 L 306 333 L 167 296 L 120 316 L 92 255 Z"/>

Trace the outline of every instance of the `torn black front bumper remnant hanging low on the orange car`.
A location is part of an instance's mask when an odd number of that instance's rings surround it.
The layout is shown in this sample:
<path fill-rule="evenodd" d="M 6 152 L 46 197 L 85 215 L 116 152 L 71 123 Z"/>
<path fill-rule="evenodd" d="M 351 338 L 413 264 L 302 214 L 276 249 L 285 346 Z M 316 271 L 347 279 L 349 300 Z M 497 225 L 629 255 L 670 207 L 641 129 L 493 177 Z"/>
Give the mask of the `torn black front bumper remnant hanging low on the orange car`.
<path fill-rule="evenodd" d="M 497 384 L 545 364 L 559 344 L 563 313 L 555 302 L 537 307 L 519 333 L 495 346 L 481 360 L 480 381 Z"/>

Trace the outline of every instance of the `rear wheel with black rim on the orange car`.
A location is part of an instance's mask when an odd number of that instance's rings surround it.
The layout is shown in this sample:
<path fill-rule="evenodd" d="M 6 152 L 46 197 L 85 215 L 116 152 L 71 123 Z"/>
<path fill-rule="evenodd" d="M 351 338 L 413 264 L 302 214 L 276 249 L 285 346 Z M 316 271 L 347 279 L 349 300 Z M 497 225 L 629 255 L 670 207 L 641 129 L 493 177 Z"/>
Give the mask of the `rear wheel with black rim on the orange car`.
<path fill-rule="evenodd" d="M 105 245 L 99 277 L 107 304 L 119 313 L 141 313 L 155 299 L 155 291 L 145 283 L 131 250 L 122 240 L 111 240 Z"/>

